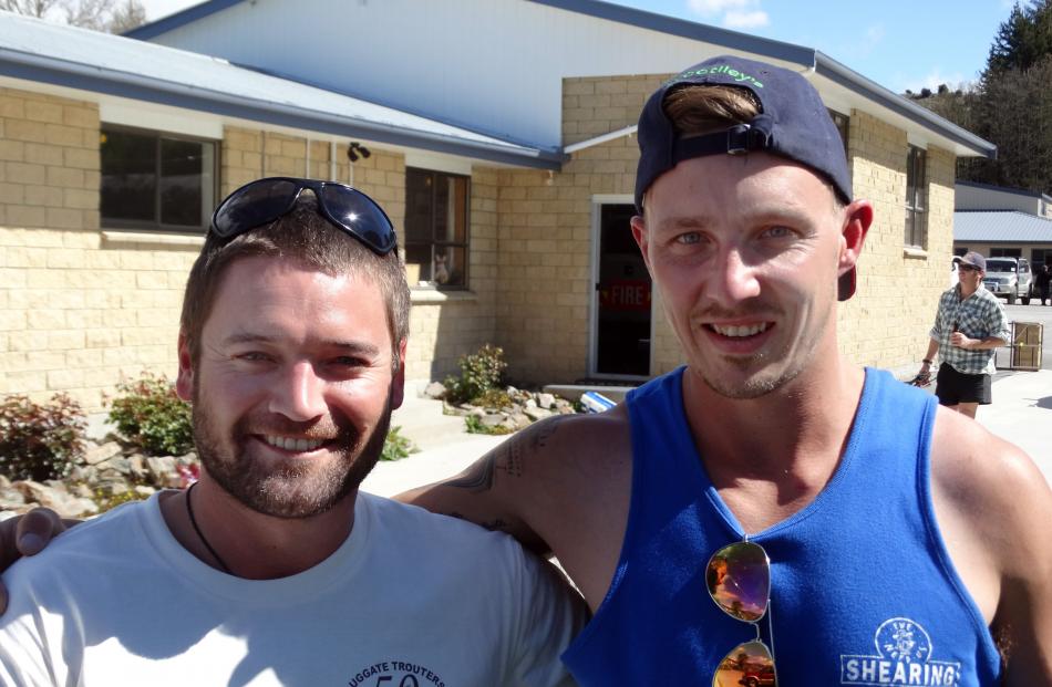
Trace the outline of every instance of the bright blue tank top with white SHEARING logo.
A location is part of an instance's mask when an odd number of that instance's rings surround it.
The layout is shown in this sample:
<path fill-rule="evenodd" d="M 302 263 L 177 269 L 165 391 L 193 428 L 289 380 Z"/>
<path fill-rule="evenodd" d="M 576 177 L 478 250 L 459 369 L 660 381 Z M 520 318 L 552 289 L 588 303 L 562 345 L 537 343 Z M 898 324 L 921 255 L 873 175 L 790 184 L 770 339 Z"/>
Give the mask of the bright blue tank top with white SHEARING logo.
<path fill-rule="evenodd" d="M 621 556 L 595 618 L 563 656 L 581 687 L 711 685 L 755 638 L 705 591 L 719 548 L 743 539 L 687 424 L 683 369 L 629 394 L 632 496 Z M 807 507 L 750 537 L 772 564 L 778 684 L 996 685 L 1000 657 L 950 563 L 929 490 L 932 396 L 866 371 L 840 465 Z"/>

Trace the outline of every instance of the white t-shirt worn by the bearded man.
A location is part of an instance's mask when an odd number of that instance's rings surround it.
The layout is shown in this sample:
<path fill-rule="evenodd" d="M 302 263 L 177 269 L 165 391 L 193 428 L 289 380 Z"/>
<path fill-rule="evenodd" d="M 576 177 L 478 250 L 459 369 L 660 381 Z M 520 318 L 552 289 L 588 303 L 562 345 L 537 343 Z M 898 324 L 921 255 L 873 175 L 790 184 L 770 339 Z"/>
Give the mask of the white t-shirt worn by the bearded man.
<path fill-rule="evenodd" d="M 573 685 L 586 611 L 510 538 L 360 493 L 327 560 L 280 580 L 214 570 L 156 496 L 3 575 L 0 685 Z"/>

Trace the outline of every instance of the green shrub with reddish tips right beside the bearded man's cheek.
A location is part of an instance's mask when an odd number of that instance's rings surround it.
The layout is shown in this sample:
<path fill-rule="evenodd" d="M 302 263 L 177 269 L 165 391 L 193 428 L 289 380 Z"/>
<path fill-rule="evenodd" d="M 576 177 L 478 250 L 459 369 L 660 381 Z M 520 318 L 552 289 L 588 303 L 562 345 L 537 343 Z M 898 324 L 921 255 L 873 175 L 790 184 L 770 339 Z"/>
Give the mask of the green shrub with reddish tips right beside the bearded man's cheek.
<path fill-rule="evenodd" d="M 190 407 L 159 375 L 144 374 L 117 385 L 110 421 L 128 441 L 152 456 L 179 456 L 194 448 Z"/>

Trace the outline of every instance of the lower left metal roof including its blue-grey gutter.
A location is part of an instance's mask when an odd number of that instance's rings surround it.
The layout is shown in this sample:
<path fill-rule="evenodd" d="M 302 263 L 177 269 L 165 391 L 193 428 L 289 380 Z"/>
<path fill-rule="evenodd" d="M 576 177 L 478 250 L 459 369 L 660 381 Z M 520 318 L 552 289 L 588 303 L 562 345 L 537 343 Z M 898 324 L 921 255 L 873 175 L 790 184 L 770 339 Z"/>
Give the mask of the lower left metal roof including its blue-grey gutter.
<path fill-rule="evenodd" d="M 486 136 L 226 60 L 10 12 L 0 12 L 0 74 L 518 166 L 558 169 L 563 160 L 555 150 Z"/>

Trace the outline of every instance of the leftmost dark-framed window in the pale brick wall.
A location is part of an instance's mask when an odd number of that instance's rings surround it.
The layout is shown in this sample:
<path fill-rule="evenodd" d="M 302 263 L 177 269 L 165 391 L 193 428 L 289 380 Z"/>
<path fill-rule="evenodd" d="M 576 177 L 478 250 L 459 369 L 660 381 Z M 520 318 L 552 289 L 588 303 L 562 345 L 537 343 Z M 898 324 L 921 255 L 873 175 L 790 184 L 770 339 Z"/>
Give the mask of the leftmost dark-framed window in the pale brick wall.
<path fill-rule="evenodd" d="M 102 127 L 101 212 L 106 227 L 204 230 L 216 205 L 216 144 Z"/>

